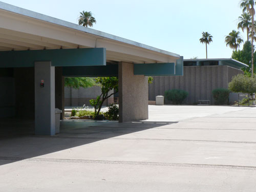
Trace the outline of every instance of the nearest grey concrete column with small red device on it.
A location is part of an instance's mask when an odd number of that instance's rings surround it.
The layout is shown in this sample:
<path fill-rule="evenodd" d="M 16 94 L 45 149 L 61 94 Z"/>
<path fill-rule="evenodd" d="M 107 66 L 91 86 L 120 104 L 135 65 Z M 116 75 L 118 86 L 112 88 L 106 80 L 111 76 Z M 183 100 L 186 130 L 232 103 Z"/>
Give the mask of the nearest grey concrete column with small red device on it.
<path fill-rule="evenodd" d="M 35 134 L 55 135 L 55 67 L 50 61 L 35 62 Z"/>

